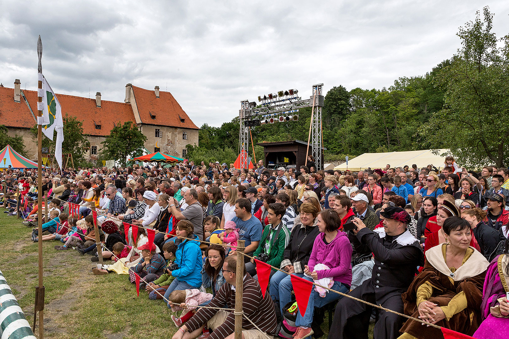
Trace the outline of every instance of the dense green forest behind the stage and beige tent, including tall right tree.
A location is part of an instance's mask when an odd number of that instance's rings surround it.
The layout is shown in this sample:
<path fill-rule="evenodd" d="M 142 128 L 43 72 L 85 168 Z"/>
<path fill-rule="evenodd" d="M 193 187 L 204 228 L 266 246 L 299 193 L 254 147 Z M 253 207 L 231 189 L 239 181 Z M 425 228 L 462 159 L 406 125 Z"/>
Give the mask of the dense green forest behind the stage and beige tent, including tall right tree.
<path fill-rule="evenodd" d="M 509 118 L 509 36 L 497 39 L 492 21 L 488 8 L 477 12 L 459 29 L 457 54 L 425 75 L 381 89 L 332 87 L 322 111 L 325 162 L 368 151 L 448 148 L 466 166 L 507 165 L 509 126 L 502 121 Z M 298 122 L 253 127 L 253 143 L 307 141 L 310 110 L 301 108 Z M 239 118 L 221 127 L 204 124 L 199 140 L 197 147 L 188 145 L 191 159 L 233 162 Z M 261 146 L 255 156 L 263 159 Z"/>

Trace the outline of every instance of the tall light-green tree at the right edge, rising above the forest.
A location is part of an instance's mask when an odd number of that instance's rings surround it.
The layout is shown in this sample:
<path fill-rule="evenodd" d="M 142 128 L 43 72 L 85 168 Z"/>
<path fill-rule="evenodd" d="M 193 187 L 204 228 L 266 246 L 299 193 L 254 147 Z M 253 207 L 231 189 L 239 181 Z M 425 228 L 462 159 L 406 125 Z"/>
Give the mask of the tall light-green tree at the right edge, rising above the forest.
<path fill-rule="evenodd" d="M 509 37 L 492 32 L 493 14 L 460 27 L 462 47 L 437 74 L 445 90 L 445 106 L 422 129 L 432 144 L 444 145 L 466 166 L 494 163 L 501 167 L 509 156 Z M 439 131 L 439 133 L 437 133 Z"/>

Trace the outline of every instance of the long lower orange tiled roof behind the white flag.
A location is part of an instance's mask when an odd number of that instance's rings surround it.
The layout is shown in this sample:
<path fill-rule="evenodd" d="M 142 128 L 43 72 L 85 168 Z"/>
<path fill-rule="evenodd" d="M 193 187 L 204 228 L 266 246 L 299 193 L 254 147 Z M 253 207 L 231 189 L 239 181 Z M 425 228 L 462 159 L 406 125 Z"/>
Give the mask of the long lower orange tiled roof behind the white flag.
<path fill-rule="evenodd" d="M 34 114 L 37 115 L 37 91 L 23 90 L 26 100 Z M 83 134 L 107 136 L 119 121 L 135 121 L 130 104 L 101 100 L 101 107 L 96 107 L 95 98 L 82 98 L 56 94 L 62 105 L 62 115 L 69 114 L 83 121 Z M 96 129 L 96 125 L 101 129 Z M 0 87 L 0 125 L 8 127 L 31 128 L 35 120 L 29 108 L 21 98 L 21 103 L 14 101 L 14 88 Z"/>

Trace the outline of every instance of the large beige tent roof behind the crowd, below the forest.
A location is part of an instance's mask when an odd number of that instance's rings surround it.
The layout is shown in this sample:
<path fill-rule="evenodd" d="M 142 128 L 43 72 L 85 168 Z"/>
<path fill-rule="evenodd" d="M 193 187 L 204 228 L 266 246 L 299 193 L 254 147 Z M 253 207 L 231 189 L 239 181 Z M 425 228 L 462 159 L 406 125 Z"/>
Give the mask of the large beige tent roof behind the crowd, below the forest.
<path fill-rule="evenodd" d="M 416 164 L 418 168 L 432 164 L 436 168 L 441 169 L 440 167 L 443 167 L 445 157 L 440 155 L 447 153 L 447 151 L 448 149 L 439 149 L 438 155 L 434 155 L 430 149 L 409 150 L 404 152 L 363 153 L 350 160 L 348 162 L 348 167 L 347 163 L 343 163 L 334 167 L 334 169 L 342 171 L 347 169 L 361 171 L 367 168 L 385 169 L 385 165 L 387 164 L 389 164 L 390 167 L 403 167 L 405 165 L 412 167 L 412 164 Z"/>

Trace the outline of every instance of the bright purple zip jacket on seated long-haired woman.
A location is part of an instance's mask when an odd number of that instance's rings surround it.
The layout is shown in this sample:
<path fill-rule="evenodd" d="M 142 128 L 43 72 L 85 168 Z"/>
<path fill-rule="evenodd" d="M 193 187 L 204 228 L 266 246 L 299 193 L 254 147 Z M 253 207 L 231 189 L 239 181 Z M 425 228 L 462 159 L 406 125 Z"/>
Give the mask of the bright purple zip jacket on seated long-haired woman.
<path fill-rule="evenodd" d="M 334 240 L 325 244 L 325 233 L 315 238 L 311 257 L 307 263 L 313 272 L 315 265 L 321 263 L 331 267 L 317 271 L 318 279 L 332 277 L 334 281 L 352 285 L 352 245 L 345 232 L 338 231 Z"/>

